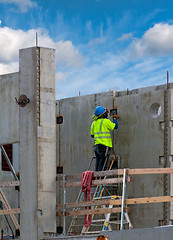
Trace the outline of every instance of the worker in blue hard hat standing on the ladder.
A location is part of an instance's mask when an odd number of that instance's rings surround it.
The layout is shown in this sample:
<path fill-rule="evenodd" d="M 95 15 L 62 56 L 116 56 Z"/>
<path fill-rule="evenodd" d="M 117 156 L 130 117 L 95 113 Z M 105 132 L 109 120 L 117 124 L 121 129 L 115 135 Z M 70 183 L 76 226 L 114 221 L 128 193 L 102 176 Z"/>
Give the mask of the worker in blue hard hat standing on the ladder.
<path fill-rule="evenodd" d="M 108 109 L 101 106 L 96 107 L 91 124 L 91 137 L 95 140 L 94 152 L 96 156 L 95 171 L 104 170 L 104 163 L 112 148 L 112 139 L 110 130 L 118 128 L 118 116 L 113 116 L 114 122 L 108 119 Z"/>

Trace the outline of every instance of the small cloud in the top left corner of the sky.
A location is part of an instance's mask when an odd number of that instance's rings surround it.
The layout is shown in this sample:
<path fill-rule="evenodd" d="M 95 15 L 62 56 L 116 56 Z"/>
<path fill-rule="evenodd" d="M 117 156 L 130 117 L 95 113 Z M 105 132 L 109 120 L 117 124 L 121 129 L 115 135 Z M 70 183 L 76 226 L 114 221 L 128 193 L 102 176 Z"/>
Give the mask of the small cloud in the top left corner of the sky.
<path fill-rule="evenodd" d="M 37 3 L 31 0 L 0 0 L 0 3 L 14 4 L 22 12 L 27 12 L 29 8 L 37 7 Z"/>

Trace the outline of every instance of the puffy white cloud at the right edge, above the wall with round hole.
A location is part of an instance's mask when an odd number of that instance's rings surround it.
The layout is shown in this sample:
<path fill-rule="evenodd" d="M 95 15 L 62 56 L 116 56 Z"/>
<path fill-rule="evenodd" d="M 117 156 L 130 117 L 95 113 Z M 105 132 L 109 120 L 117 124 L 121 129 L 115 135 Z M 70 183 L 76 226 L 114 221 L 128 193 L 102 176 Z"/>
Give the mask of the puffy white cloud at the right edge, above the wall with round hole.
<path fill-rule="evenodd" d="M 159 23 L 145 32 L 141 39 L 135 39 L 130 46 L 133 58 L 164 56 L 173 54 L 173 25 Z"/>

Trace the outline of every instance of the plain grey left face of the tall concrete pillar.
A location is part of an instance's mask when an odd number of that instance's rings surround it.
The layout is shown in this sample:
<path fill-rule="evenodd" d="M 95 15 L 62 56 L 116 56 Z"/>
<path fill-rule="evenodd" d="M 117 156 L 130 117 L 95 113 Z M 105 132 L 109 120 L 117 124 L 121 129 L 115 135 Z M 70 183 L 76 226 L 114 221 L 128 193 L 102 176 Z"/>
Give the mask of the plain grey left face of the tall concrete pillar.
<path fill-rule="evenodd" d="M 37 53 L 36 48 L 19 51 L 19 95 L 30 103 L 19 107 L 20 225 L 21 239 L 38 238 L 37 179 Z"/>

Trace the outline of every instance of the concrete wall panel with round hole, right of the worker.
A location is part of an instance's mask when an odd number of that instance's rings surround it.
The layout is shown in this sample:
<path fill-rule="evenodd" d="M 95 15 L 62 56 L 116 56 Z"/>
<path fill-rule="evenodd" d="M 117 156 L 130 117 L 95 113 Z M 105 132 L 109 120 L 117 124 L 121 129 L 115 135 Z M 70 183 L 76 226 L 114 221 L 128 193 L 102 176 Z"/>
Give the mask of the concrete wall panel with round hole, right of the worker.
<path fill-rule="evenodd" d="M 146 89 L 141 94 L 117 97 L 116 101 L 120 116 L 116 153 L 120 155 L 121 167 L 163 167 L 164 91 Z M 129 198 L 163 195 L 163 175 L 133 176 L 132 183 L 127 184 Z M 130 206 L 130 217 L 135 228 L 158 226 L 163 219 L 163 204 Z"/>

